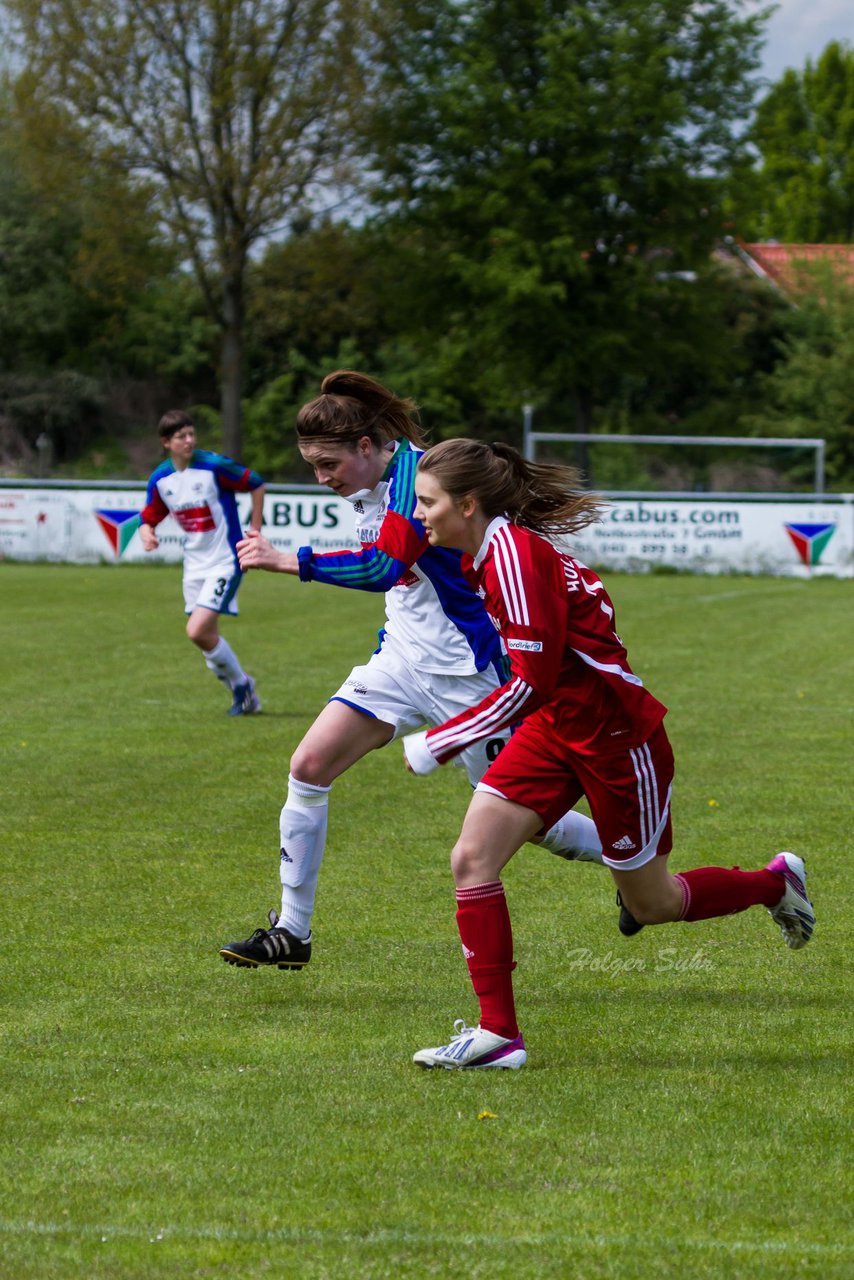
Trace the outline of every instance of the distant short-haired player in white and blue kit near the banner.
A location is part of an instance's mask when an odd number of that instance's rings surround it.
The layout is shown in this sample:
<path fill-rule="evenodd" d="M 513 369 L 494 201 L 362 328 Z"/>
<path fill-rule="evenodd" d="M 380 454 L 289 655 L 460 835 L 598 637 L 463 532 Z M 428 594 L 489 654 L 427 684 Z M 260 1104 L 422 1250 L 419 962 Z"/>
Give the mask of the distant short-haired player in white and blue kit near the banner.
<path fill-rule="evenodd" d="M 196 428 L 181 410 L 160 419 L 159 434 L 166 457 L 149 477 L 141 512 L 140 538 L 147 552 L 159 547 L 155 529 L 172 515 L 184 532 L 184 612 L 187 635 L 205 663 L 232 691 L 229 716 L 251 716 L 261 703 L 255 681 L 219 634 L 220 613 L 237 613 L 241 567 L 237 543 L 243 536 L 236 493 L 252 494 L 250 527 L 261 527 L 264 481 L 255 471 L 196 448 Z"/>

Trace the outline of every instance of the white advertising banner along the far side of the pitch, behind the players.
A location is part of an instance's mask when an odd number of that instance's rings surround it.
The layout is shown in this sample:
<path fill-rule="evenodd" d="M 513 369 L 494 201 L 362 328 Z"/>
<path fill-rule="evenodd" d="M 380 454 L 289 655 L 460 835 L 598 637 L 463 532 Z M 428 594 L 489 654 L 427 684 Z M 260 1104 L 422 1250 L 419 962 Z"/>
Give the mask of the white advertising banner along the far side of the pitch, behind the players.
<path fill-rule="evenodd" d="M 72 563 L 181 559 L 172 520 L 150 556 L 137 534 L 145 488 L 0 485 L 0 557 Z M 250 497 L 238 495 L 243 525 Z M 265 534 L 280 550 L 353 547 L 352 507 L 320 489 L 268 486 Z M 615 498 L 600 524 L 570 540 L 585 563 L 611 570 L 656 567 L 705 573 L 854 576 L 854 495 L 780 498 Z"/>

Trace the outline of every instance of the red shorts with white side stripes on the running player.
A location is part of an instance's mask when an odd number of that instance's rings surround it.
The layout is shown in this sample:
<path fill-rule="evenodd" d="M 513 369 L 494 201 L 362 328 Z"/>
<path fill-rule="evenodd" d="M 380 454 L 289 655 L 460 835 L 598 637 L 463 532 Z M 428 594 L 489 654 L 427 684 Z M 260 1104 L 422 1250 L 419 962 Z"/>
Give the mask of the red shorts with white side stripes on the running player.
<path fill-rule="evenodd" d="M 673 753 L 663 724 L 641 746 L 577 755 L 524 721 L 476 790 L 533 809 L 544 831 L 586 796 L 606 864 L 634 870 L 672 849 L 672 781 Z"/>

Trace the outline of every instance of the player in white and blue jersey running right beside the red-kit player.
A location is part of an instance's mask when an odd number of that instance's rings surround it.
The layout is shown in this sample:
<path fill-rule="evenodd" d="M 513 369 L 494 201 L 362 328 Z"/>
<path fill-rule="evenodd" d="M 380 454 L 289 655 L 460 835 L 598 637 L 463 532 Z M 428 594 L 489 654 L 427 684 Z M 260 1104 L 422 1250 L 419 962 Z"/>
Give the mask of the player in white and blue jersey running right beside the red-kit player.
<path fill-rule="evenodd" d="M 220 948 L 229 964 L 301 969 L 311 956 L 311 914 L 326 841 L 332 783 L 369 751 L 480 701 L 504 678 L 499 637 L 462 577 L 460 552 L 430 547 L 414 516 L 423 436 L 415 406 L 352 370 L 329 374 L 297 416 L 302 457 L 320 484 L 347 498 L 360 550 L 294 556 L 265 538 L 238 544 L 242 568 L 298 575 L 303 582 L 385 593 L 380 646 L 353 668 L 291 759 L 280 817 L 282 910 L 270 929 Z M 503 748 L 508 724 L 458 754 L 474 786 Z M 602 861 L 592 820 L 556 814 L 538 840 L 568 860 Z M 535 833 L 533 833 L 535 835 Z"/>

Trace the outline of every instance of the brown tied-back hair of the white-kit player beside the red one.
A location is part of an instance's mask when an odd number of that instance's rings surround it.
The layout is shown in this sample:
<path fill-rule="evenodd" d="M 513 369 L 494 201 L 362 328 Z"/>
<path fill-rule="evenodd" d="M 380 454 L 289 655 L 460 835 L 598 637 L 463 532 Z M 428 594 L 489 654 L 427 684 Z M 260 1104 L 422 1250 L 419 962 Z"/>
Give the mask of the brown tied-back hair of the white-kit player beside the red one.
<path fill-rule="evenodd" d="M 362 435 L 378 447 L 401 435 L 419 448 L 426 443 L 415 401 L 396 396 L 375 378 L 353 369 L 326 374 L 320 396 L 297 413 L 297 435 L 301 440 L 350 445 Z"/>

